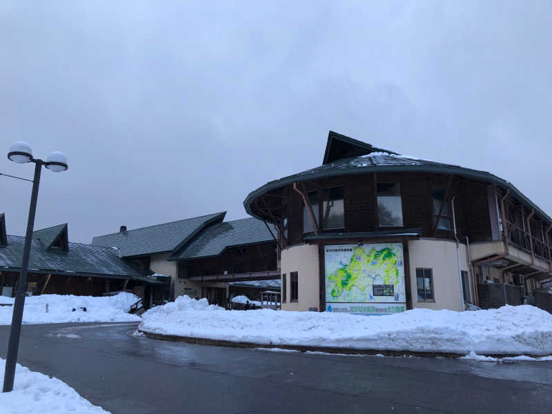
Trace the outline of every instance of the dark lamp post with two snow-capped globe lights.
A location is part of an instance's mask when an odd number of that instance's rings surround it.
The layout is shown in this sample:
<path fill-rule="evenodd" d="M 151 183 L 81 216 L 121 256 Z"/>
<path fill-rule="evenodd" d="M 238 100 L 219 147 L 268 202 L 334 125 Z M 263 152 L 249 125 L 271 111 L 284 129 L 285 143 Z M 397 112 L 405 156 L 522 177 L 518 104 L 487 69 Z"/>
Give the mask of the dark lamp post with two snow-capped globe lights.
<path fill-rule="evenodd" d="M 34 213 L 37 211 L 37 197 L 39 195 L 40 172 L 42 166 L 53 172 L 67 170 L 67 157 L 63 152 L 54 151 L 48 155 L 46 161 L 32 157 L 32 150 L 26 142 L 16 142 L 10 147 L 8 159 L 17 164 L 34 162 L 34 179 L 32 180 L 32 193 L 30 197 L 29 219 L 27 221 L 27 233 L 23 247 L 23 259 L 21 260 L 21 273 L 15 301 L 13 306 L 12 326 L 8 341 L 8 354 L 6 355 L 6 372 L 4 374 L 3 392 L 9 393 L 13 389 L 15 377 L 15 364 L 17 363 L 17 351 L 19 350 L 19 336 L 21 335 L 21 320 L 23 319 L 23 307 L 27 288 L 27 270 L 29 267 L 30 244 L 32 241 L 32 228 L 34 227 Z"/>

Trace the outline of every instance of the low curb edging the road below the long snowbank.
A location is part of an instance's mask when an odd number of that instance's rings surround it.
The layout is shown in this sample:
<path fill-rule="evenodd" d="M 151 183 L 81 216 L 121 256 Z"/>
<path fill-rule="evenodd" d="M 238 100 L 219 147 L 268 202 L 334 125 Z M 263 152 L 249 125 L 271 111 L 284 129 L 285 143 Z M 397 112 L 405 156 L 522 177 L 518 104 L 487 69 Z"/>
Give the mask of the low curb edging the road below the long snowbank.
<path fill-rule="evenodd" d="M 164 335 L 161 333 L 150 333 L 147 331 L 139 332 L 146 335 L 150 339 L 157 339 L 159 341 L 169 341 L 169 342 L 187 342 L 188 344 L 199 344 L 199 345 L 213 345 L 213 346 L 228 346 L 231 348 L 279 348 L 279 349 L 290 349 L 293 351 L 300 352 L 324 352 L 324 353 L 333 353 L 333 354 L 348 354 L 348 355 L 385 355 L 388 357 L 402 357 L 413 356 L 413 357 L 425 357 L 425 358 L 460 358 L 464 357 L 466 353 L 451 353 L 451 352 L 428 352 L 428 351 L 395 351 L 389 349 L 358 349 L 358 348 L 339 348 L 337 346 L 306 346 L 306 345 L 277 345 L 277 344 L 254 344 L 253 342 L 233 342 L 233 341 L 224 341 L 221 339 L 210 339 L 210 338 L 198 338 L 198 337 L 183 337 L 178 335 Z M 527 357 L 539 358 L 547 355 L 533 355 L 533 354 L 479 354 L 484 355 L 485 357 L 493 358 L 507 358 L 507 357 L 519 357 L 520 355 L 525 355 Z"/>

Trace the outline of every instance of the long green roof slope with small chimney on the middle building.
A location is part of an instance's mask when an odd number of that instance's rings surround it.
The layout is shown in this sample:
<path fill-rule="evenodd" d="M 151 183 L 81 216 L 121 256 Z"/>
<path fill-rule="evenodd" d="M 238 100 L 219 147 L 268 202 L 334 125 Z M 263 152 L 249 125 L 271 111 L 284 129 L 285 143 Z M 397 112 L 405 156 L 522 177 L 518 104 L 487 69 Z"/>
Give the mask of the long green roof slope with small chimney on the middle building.
<path fill-rule="evenodd" d="M 226 215 L 226 211 L 97 236 L 92 239 L 92 244 L 117 247 L 121 252 L 121 257 L 174 253 L 205 226 L 222 221 L 224 215 Z"/>

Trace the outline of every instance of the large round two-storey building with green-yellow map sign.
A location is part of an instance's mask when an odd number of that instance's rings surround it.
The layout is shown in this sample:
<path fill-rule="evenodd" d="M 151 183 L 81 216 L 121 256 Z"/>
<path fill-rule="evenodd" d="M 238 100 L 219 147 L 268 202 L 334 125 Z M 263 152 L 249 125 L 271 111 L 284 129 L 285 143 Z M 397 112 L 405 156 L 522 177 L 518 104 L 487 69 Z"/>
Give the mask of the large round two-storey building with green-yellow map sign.
<path fill-rule="evenodd" d="M 277 229 L 283 309 L 460 311 L 500 305 L 486 286 L 515 304 L 552 277 L 552 219 L 511 183 L 335 132 L 322 166 L 244 206 Z"/>

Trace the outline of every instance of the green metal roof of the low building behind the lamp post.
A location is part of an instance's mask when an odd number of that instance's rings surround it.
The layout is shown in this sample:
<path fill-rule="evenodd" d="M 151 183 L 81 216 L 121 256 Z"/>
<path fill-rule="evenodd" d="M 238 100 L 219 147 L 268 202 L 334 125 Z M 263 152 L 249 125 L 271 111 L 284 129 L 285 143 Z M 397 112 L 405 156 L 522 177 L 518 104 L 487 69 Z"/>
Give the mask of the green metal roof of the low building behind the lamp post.
<path fill-rule="evenodd" d="M 0 271 L 19 271 L 25 237 L 8 235 L 8 244 L 0 247 Z M 133 262 L 121 259 L 115 248 L 69 243 L 69 250 L 49 249 L 41 239 L 32 239 L 29 271 L 90 277 L 143 278 L 149 273 Z"/>

